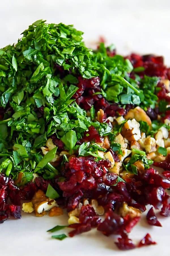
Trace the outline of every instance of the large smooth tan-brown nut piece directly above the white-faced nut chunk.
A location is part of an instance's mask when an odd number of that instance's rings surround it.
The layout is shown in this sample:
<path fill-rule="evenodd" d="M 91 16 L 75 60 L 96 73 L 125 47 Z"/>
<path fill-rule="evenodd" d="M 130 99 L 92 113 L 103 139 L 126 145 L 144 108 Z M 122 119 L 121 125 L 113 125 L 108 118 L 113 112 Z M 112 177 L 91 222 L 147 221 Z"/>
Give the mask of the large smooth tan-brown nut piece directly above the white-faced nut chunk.
<path fill-rule="evenodd" d="M 146 112 L 140 107 L 130 109 L 128 111 L 127 115 L 124 116 L 124 118 L 125 119 L 135 118 L 136 121 L 145 121 L 146 123 L 148 123 L 148 125 L 152 124 L 152 122 L 151 122 L 150 118 L 148 117 L 148 115 L 146 114 Z"/>

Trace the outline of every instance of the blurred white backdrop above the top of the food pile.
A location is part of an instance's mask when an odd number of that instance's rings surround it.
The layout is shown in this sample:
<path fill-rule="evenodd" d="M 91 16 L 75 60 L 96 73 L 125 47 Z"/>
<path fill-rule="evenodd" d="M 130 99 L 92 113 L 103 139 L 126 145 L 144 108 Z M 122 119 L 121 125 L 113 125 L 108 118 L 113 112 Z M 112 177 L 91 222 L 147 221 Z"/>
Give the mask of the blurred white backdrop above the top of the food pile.
<path fill-rule="evenodd" d="M 105 36 L 122 54 L 164 55 L 170 65 L 169 0 L 1 0 L 0 47 L 37 19 L 74 24 L 90 45 Z"/>

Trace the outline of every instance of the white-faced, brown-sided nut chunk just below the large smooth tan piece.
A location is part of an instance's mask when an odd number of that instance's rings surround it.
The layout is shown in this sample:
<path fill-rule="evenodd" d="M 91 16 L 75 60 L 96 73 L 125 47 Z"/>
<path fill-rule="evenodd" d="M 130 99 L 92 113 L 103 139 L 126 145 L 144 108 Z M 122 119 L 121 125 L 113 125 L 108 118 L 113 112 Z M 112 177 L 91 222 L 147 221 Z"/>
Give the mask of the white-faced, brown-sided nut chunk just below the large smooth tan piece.
<path fill-rule="evenodd" d="M 128 141 L 138 141 L 141 138 L 140 124 L 135 120 L 128 120 L 122 129 L 122 135 Z"/>

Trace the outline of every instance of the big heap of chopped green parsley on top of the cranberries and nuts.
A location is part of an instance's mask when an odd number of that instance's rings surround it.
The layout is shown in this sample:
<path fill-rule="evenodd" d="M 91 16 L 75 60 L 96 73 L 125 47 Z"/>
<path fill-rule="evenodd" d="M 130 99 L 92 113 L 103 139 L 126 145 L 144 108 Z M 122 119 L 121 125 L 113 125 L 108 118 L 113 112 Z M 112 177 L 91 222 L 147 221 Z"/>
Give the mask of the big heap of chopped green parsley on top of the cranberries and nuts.
<path fill-rule="evenodd" d="M 120 129 L 111 131 L 107 123 L 95 120 L 93 107 L 91 116 L 87 116 L 74 102 L 78 76 L 99 76 L 101 94 L 109 102 L 122 106 L 140 104 L 143 108 L 151 104 L 154 107 L 158 82 L 155 77 L 129 78 L 133 66 L 128 59 L 120 55 L 109 57 L 104 44 L 97 51 L 88 49 L 82 41 L 83 33 L 72 25 L 38 20 L 22 34 L 16 45 L 0 49 L 0 107 L 5 109 L 0 121 L 0 172 L 13 178 L 23 172 L 20 185 L 32 180 L 33 172 L 45 179 L 58 173 L 49 163 L 57 148 L 44 157 L 40 149 L 52 134 L 63 141 L 70 153 L 78 150 L 79 156 L 90 154 L 100 160 L 97 144 L 76 146 L 76 142 L 90 125 L 101 136 L 110 138 Z M 69 71 L 62 79 L 56 73 L 56 65 Z M 37 109 L 41 107 L 44 114 L 39 117 Z M 120 149 L 116 143 L 112 143 L 112 148 Z M 66 156 L 64 159 L 67 161 Z"/>

